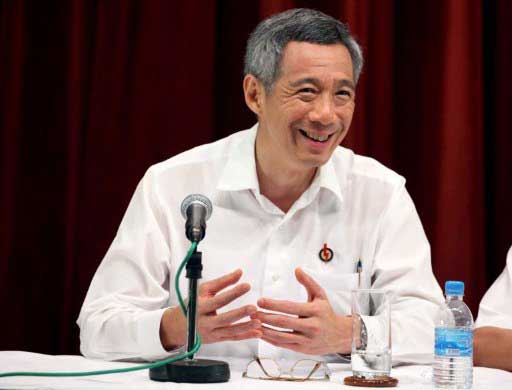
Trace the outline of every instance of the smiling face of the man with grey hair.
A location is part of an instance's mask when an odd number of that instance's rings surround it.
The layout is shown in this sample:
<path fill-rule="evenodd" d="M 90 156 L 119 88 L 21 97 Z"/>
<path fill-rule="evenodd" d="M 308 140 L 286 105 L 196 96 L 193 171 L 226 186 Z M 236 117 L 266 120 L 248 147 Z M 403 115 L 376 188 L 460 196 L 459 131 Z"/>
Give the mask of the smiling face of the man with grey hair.
<path fill-rule="evenodd" d="M 272 91 L 263 92 L 259 136 L 265 154 L 293 169 L 325 164 L 352 121 L 353 80 L 345 46 L 290 42 Z"/>

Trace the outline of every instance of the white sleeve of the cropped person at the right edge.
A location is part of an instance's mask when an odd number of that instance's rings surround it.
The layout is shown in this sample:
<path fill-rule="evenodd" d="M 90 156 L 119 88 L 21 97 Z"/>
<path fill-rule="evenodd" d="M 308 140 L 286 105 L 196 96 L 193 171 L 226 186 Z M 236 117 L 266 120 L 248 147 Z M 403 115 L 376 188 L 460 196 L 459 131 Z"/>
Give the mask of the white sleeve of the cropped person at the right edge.
<path fill-rule="evenodd" d="M 507 264 L 485 293 L 476 319 L 475 328 L 497 326 L 512 329 L 512 247 L 508 250 Z"/>

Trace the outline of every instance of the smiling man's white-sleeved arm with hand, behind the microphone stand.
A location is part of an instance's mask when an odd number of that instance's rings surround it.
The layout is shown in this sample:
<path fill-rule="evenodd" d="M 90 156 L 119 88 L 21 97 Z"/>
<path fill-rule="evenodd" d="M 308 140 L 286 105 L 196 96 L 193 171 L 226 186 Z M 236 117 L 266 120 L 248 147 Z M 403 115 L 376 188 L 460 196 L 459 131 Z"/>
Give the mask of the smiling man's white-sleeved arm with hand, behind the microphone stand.
<path fill-rule="evenodd" d="M 181 309 L 167 307 L 169 295 L 175 293 L 168 290 L 169 285 L 174 285 L 169 282 L 173 278 L 168 264 L 169 221 L 162 212 L 155 186 L 149 170 L 137 186 L 116 238 L 91 282 L 77 321 L 84 356 L 156 360 L 179 352 L 169 350 L 185 343 Z M 200 287 L 198 325 L 204 341 L 260 335 L 259 321 L 232 324 L 255 311 L 254 305 L 221 315 L 215 313 L 247 293 L 247 284 L 237 284 L 240 277 L 241 271 L 235 271 Z M 232 287 L 221 291 L 228 286 Z"/>

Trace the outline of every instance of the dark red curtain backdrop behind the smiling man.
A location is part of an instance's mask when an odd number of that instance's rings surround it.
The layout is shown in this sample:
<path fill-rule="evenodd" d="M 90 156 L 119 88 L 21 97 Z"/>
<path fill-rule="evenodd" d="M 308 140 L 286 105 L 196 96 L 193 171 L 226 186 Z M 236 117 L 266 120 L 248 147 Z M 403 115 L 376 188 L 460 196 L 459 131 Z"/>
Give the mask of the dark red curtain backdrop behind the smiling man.
<path fill-rule="evenodd" d="M 439 282 L 466 282 L 476 315 L 512 244 L 511 2 L 3 0 L 0 349 L 78 352 L 75 320 L 137 182 L 254 123 L 245 42 L 291 7 L 358 37 L 344 144 L 407 178 Z"/>

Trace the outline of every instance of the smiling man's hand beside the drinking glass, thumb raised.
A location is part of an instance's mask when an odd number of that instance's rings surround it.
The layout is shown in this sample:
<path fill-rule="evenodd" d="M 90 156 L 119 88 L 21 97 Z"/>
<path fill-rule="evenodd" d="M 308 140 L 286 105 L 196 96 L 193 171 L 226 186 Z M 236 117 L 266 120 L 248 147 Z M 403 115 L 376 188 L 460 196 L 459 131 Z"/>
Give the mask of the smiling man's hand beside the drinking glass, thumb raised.
<path fill-rule="evenodd" d="M 324 289 L 302 269 L 295 270 L 295 277 L 306 288 L 308 302 L 259 299 L 260 308 L 284 314 L 258 311 L 251 315 L 251 318 L 258 319 L 263 324 L 290 329 L 278 331 L 263 326 L 262 340 L 277 347 L 311 355 L 349 353 L 352 337 L 351 318 L 336 315 Z"/>

